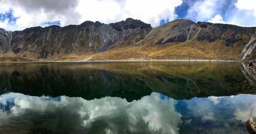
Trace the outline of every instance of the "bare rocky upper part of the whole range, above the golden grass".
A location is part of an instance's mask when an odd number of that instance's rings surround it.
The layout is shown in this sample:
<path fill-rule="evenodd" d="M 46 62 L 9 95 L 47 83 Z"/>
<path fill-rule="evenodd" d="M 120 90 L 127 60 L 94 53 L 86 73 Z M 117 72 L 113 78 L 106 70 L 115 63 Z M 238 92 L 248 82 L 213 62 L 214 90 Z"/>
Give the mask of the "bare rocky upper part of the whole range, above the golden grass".
<path fill-rule="evenodd" d="M 216 52 L 229 47 L 229 53 L 241 60 L 256 58 L 255 27 L 195 23 L 187 19 L 174 20 L 154 29 L 150 24 L 132 18 L 109 25 L 85 21 L 81 25 L 33 27 L 14 32 L 0 29 L 2 54 L 12 51 L 17 56 L 30 58 L 54 59 L 63 55 L 104 52 L 110 46 L 114 46 L 110 49 L 115 49 L 134 44 L 159 46 L 186 41 L 196 41 L 197 44 L 213 42 L 219 48 L 212 50 Z"/>

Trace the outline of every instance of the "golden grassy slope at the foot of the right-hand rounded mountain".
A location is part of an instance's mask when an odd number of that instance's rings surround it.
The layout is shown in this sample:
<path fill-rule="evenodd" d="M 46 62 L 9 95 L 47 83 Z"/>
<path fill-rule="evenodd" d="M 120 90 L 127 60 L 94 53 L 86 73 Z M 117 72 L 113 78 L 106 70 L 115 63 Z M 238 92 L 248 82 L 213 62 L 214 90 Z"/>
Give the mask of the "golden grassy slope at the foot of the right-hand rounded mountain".
<path fill-rule="evenodd" d="M 234 44 L 236 45 L 236 44 Z M 92 55 L 91 60 L 122 59 L 223 59 L 239 60 L 242 46 L 226 47 L 222 40 L 186 41 L 161 46 L 130 46 Z"/>

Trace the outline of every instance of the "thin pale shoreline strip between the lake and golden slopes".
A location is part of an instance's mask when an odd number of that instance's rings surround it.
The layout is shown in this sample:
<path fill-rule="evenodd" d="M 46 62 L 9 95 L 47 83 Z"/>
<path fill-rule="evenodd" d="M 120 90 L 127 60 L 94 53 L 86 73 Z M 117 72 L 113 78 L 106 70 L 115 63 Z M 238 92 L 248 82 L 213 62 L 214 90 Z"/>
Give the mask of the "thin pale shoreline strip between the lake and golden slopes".
<path fill-rule="evenodd" d="M 123 60 L 74 60 L 74 61 L 6 61 L 0 63 L 88 63 L 88 62 L 169 62 L 169 61 L 199 61 L 199 62 L 245 62 L 242 60 L 217 60 L 217 59 L 123 59 Z"/>

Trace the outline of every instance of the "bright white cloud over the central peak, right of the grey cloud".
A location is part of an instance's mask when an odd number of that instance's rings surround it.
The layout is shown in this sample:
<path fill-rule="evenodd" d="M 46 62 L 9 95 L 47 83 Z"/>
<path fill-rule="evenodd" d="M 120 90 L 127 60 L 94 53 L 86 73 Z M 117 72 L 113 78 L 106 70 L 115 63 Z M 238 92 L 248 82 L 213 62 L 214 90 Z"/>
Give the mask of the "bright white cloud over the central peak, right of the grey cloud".
<path fill-rule="evenodd" d="M 140 19 L 155 27 L 159 25 L 161 19 L 175 19 L 175 7 L 181 4 L 181 0 L 90 0 L 80 1 L 77 7 L 77 12 L 82 16 L 79 23 L 82 23 L 84 20 L 98 20 L 108 24 L 131 17 Z"/>

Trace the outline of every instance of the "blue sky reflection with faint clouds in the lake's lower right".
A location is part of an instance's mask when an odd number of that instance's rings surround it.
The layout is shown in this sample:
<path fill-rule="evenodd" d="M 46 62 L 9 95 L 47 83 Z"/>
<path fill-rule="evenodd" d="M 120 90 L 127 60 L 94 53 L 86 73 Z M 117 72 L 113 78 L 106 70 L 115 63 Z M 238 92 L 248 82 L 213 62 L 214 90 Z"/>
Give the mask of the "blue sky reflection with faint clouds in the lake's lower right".
<path fill-rule="evenodd" d="M 256 119 L 256 96 L 193 98 L 178 101 L 181 133 L 246 133 L 245 122 Z M 196 125 L 195 125 L 196 124 Z"/>

